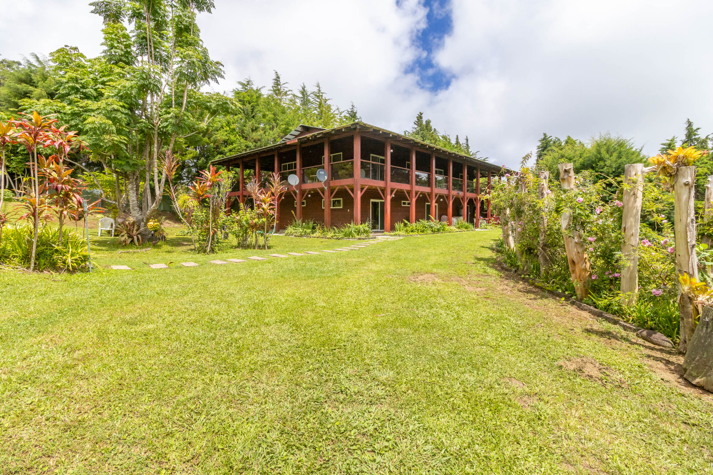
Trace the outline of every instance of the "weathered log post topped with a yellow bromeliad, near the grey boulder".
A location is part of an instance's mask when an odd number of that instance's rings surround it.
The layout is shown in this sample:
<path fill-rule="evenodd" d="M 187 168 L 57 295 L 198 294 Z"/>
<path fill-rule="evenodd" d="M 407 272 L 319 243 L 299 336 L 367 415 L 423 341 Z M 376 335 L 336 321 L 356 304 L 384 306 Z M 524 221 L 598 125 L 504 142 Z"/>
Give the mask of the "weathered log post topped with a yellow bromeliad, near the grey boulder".
<path fill-rule="evenodd" d="M 679 276 L 688 274 L 698 278 L 696 257 L 696 215 L 694 211 L 694 187 L 696 167 L 679 167 L 674 175 L 674 236 L 676 241 L 676 271 Z M 693 299 L 678 286 L 679 343 L 678 350 L 686 353 L 694 330 L 697 308 Z"/>

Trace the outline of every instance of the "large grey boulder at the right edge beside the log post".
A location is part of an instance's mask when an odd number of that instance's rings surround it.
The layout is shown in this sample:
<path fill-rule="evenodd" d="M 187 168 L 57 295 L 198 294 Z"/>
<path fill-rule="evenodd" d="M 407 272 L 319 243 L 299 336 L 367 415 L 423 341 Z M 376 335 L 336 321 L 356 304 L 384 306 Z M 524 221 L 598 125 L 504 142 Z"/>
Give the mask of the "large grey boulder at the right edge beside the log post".
<path fill-rule="evenodd" d="M 688 344 L 683 377 L 713 392 L 713 307 L 705 307 L 701 321 Z"/>

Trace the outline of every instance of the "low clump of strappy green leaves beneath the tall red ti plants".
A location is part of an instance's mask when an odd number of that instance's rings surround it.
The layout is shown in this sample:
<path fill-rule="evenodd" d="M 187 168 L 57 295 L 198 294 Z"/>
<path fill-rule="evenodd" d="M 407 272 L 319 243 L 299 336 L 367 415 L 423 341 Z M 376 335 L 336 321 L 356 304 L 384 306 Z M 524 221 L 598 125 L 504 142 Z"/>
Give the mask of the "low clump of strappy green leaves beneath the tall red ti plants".
<path fill-rule="evenodd" d="M 32 251 L 33 226 L 6 227 L 0 242 L 0 265 L 29 268 Z M 73 231 L 50 226 L 39 229 L 35 269 L 37 271 L 78 272 L 89 270 L 87 241 Z"/>

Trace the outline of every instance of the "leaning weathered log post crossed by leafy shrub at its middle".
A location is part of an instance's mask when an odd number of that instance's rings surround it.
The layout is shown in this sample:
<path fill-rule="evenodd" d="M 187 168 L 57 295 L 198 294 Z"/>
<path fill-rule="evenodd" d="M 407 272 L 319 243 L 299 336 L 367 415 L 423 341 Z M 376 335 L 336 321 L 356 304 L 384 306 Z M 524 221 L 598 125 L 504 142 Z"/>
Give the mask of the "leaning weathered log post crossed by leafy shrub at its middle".
<path fill-rule="evenodd" d="M 574 165 L 571 163 L 560 163 L 560 184 L 562 189 L 572 191 L 575 189 Z M 575 284 L 577 298 L 583 300 L 587 297 L 587 287 L 590 273 L 589 256 L 585 251 L 581 227 L 573 223 L 572 210 L 565 209 L 562 214 L 562 235 L 565 241 L 565 251 L 567 251 L 567 263 L 570 267 L 572 282 Z"/>

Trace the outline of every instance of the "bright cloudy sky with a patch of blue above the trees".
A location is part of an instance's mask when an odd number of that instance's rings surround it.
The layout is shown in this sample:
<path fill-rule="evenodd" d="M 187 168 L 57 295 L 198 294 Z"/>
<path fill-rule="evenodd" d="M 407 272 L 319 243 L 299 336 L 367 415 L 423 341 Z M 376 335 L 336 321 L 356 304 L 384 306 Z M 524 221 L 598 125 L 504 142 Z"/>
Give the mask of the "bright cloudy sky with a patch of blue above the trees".
<path fill-rule="evenodd" d="M 89 0 L 6 1 L 0 55 L 101 52 Z M 713 132 L 709 0 L 215 0 L 198 23 L 230 91 L 250 77 L 317 81 L 334 104 L 401 132 L 441 132 L 517 166 L 543 132 L 611 132 L 647 154 L 691 118 Z M 60 24 L 51 34 L 36 25 Z M 670 32 L 674 31 L 675 34 Z"/>

